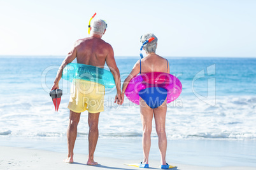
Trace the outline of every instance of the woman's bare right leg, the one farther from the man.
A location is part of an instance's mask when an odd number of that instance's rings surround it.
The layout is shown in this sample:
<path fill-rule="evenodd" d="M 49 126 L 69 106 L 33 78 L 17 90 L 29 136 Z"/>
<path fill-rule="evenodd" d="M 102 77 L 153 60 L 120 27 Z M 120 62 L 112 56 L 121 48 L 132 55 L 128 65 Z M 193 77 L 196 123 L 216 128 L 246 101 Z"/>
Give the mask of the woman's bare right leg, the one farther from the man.
<path fill-rule="evenodd" d="M 166 165 L 166 101 L 160 105 L 160 107 L 154 108 L 153 113 L 155 117 L 155 129 L 157 130 L 158 145 L 161 155 L 161 164 Z"/>

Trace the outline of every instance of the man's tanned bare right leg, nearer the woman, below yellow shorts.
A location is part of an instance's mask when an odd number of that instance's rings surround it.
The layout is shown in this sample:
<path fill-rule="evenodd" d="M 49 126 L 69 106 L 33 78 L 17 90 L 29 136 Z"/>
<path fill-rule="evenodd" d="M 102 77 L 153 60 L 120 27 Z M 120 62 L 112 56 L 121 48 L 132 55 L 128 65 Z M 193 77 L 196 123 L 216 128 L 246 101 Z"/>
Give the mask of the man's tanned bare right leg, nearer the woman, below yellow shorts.
<path fill-rule="evenodd" d="M 96 149 L 98 137 L 99 137 L 99 113 L 92 114 L 89 113 L 88 115 L 88 125 L 89 125 L 89 155 L 87 165 L 94 166 L 97 165 L 97 162 L 94 162 L 94 152 Z"/>

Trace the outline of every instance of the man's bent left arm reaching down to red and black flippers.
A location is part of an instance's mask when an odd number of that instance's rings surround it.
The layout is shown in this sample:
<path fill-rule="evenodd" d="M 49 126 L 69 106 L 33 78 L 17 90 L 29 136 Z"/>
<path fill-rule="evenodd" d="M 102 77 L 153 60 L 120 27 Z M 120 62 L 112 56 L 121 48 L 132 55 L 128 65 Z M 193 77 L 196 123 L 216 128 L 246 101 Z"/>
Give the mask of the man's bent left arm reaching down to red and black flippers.
<path fill-rule="evenodd" d="M 59 89 L 59 81 L 61 79 L 63 69 L 66 67 L 66 65 L 68 65 L 68 63 L 71 63 L 75 58 L 76 58 L 76 48 L 74 46 L 74 48 L 68 53 L 68 55 L 60 65 L 51 90 Z"/>

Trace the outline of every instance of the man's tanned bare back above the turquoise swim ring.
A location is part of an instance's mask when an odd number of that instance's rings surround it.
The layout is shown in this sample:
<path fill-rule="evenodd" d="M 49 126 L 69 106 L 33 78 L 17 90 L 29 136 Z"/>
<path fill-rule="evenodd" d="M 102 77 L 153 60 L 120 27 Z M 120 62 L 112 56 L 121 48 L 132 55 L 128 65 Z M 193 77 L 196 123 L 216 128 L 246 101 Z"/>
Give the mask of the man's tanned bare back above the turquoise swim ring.
<path fill-rule="evenodd" d="M 104 67 L 107 56 L 113 53 L 111 45 L 97 37 L 79 39 L 75 48 L 78 63 L 101 68 Z"/>

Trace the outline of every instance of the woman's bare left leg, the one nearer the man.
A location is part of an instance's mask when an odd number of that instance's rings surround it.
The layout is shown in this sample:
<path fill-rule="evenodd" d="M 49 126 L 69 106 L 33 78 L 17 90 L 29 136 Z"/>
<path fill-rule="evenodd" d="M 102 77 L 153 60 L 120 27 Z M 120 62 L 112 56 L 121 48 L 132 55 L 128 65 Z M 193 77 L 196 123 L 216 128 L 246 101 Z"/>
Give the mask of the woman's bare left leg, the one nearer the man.
<path fill-rule="evenodd" d="M 153 109 L 146 105 L 143 99 L 139 99 L 139 105 L 141 110 L 141 123 L 143 128 L 142 136 L 142 147 L 143 147 L 143 164 L 148 164 L 148 157 L 151 146 L 151 131 L 152 131 L 152 119 L 153 119 Z"/>

